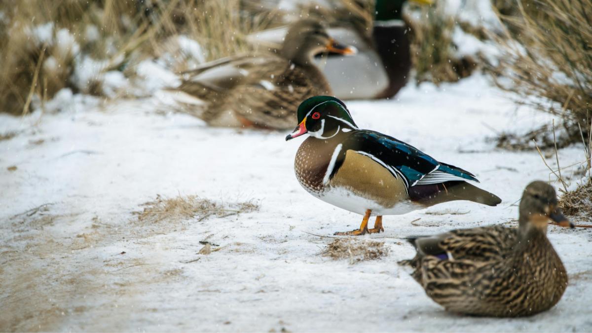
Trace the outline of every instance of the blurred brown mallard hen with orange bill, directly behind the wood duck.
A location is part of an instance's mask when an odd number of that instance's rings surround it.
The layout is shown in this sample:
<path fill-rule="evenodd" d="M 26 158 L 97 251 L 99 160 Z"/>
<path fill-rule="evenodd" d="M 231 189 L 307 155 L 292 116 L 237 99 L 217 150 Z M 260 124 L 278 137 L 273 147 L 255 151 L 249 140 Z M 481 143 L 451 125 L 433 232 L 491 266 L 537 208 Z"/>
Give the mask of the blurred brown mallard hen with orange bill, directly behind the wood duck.
<path fill-rule="evenodd" d="M 278 54 L 232 56 L 185 73 L 176 100 L 188 104 L 211 126 L 288 129 L 295 108 L 305 98 L 332 94 L 313 63 L 319 52 L 350 55 L 316 20 L 292 24 Z"/>

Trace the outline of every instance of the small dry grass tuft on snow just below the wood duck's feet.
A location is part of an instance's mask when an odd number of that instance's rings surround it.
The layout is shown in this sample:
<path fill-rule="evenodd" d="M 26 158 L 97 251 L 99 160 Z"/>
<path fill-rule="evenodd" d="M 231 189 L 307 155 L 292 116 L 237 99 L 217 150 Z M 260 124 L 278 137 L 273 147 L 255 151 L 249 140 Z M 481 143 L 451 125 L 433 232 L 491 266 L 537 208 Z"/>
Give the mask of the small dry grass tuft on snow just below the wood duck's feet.
<path fill-rule="evenodd" d="M 350 264 L 364 260 L 377 260 L 388 255 L 384 242 L 360 238 L 336 238 L 322 252 L 333 260 L 349 259 Z"/>

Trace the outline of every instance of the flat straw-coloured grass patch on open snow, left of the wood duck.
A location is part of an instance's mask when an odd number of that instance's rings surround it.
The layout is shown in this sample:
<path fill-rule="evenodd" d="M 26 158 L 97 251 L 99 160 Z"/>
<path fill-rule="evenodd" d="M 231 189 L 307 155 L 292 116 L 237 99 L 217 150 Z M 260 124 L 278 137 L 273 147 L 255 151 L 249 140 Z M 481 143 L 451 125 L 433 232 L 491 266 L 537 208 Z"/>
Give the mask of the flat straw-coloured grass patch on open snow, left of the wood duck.
<path fill-rule="evenodd" d="M 154 201 L 144 203 L 143 206 L 145 207 L 141 212 L 134 212 L 138 221 L 143 223 L 179 222 L 188 219 L 202 221 L 211 216 L 227 217 L 259 210 L 259 205 L 253 201 L 216 203 L 198 196 L 163 198 L 157 195 Z"/>

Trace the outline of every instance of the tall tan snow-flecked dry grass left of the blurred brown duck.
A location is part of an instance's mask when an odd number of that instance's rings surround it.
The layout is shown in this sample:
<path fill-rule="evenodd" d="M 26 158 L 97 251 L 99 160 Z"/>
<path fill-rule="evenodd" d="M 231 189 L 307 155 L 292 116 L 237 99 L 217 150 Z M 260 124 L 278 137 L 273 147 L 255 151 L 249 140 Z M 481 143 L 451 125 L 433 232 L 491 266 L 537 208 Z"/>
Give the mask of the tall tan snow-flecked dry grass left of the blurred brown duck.
<path fill-rule="evenodd" d="M 116 97 L 104 73 L 134 75 L 134 65 L 167 51 L 170 68 L 184 70 L 191 55 L 165 41 L 183 34 L 200 43 L 202 60 L 249 49 L 246 34 L 276 15 L 246 15 L 245 0 L 0 2 L 0 111 L 43 108 L 60 89 Z M 169 48 L 169 49 L 167 49 Z"/>

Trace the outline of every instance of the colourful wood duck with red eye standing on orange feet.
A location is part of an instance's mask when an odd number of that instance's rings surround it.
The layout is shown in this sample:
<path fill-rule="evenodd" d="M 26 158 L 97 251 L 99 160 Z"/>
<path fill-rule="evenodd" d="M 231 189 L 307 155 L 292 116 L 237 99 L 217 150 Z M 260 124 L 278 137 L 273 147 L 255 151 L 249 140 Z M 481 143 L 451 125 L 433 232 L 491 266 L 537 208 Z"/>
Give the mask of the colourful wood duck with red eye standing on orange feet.
<path fill-rule="evenodd" d="M 405 214 L 438 203 L 469 200 L 496 206 L 500 198 L 470 181 L 475 175 L 436 161 L 405 142 L 359 129 L 335 97 L 308 98 L 298 107 L 298 126 L 286 137 L 310 135 L 296 153 L 296 177 L 308 193 L 363 215 L 359 229 L 337 235 L 384 231 L 382 215 Z M 375 215 L 374 228 L 368 219 Z"/>

